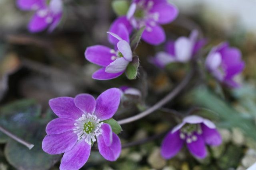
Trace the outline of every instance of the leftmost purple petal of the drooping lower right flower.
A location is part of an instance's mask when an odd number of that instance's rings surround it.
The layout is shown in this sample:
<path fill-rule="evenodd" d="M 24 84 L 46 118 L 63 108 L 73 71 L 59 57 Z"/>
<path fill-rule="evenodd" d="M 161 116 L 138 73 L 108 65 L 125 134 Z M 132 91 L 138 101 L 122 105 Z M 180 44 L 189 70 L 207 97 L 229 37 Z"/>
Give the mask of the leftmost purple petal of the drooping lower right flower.
<path fill-rule="evenodd" d="M 183 146 L 184 141 L 180 139 L 180 131 L 175 133 L 169 132 L 161 145 L 161 155 L 165 159 L 170 159 L 175 156 Z"/>

